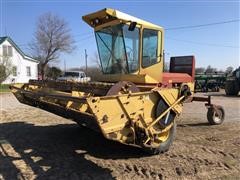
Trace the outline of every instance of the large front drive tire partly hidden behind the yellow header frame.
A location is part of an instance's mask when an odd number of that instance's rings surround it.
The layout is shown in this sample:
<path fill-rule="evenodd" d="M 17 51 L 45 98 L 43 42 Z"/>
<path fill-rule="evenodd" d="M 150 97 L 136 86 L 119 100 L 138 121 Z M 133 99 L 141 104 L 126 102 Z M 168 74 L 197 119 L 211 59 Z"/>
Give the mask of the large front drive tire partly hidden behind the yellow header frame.
<path fill-rule="evenodd" d="M 156 117 L 158 117 L 160 114 L 162 114 L 167 108 L 168 108 L 168 105 L 161 99 L 158 102 L 158 105 L 156 107 Z M 164 116 L 160 120 L 160 124 L 158 124 L 158 125 L 166 127 L 166 126 L 170 125 L 171 123 L 173 123 L 172 127 L 169 130 L 167 140 L 164 142 L 161 142 L 158 147 L 154 147 L 154 148 L 153 147 L 144 147 L 144 150 L 150 154 L 164 153 L 169 150 L 170 146 L 173 143 L 173 140 L 174 140 L 175 134 L 176 134 L 176 126 L 177 126 L 176 122 L 174 122 L 176 114 L 171 111 L 168 116 L 168 123 L 164 124 L 162 121 L 166 118 L 166 116 Z"/>

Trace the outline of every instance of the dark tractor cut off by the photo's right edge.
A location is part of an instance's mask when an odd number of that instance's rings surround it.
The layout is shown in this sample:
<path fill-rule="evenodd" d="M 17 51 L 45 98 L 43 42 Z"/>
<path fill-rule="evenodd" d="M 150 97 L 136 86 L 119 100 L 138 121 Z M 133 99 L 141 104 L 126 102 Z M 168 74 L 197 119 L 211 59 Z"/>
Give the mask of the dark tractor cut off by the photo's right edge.
<path fill-rule="evenodd" d="M 240 90 L 240 67 L 233 71 L 225 82 L 225 92 L 228 96 L 237 96 Z"/>

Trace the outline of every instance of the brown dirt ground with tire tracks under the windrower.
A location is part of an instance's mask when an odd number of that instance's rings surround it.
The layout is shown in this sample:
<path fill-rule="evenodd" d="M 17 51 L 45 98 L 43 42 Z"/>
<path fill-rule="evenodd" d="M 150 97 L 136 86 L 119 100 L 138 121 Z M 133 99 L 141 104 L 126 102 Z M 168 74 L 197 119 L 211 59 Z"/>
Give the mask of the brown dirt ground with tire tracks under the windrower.
<path fill-rule="evenodd" d="M 240 96 L 212 95 L 222 125 L 208 125 L 203 103 L 186 104 L 170 150 L 149 156 L 0 94 L 0 180 L 240 179 Z"/>

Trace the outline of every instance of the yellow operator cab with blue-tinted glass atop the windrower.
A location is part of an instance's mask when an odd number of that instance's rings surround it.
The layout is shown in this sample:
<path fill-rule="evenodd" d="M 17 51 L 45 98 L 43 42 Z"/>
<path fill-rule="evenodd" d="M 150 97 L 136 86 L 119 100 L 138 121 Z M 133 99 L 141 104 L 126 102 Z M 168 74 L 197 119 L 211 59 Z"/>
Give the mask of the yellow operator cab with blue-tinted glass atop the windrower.
<path fill-rule="evenodd" d="M 113 9 L 83 16 L 83 20 L 95 31 L 103 72 L 100 81 L 162 81 L 162 27 Z"/>

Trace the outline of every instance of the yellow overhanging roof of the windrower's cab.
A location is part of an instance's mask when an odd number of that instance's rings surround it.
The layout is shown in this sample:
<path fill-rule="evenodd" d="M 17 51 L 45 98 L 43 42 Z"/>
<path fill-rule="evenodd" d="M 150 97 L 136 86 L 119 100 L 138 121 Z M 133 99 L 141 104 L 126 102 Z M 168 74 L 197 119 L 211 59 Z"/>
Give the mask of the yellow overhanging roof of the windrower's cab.
<path fill-rule="evenodd" d="M 118 10 L 115 9 L 111 9 L 111 8 L 105 8 L 102 9 L 100 11 L 85 15 L 82 17 L 82 19 L 89 24 L 91 27 L 95 28 L 96 25 L 94 25 L 93 21 L 95 19 L 104 19 L 105 17 L 109 16 L 109 21 L 114 20 L 114 19 L 119 19 L 125 22 L 136 22 L 139 25 L 143 25 L 143 26 L 149 26 L 152 28 L 156 28 L 156 29 L 163 29 L 162 27 L 155 25 L 153 23 L 144 21 L 142 19 L 136 18 L 134 16 L 128 15 L 126 13 L 120 12 Z M 106 20 L 105 20 L 106 21 Z"/>

